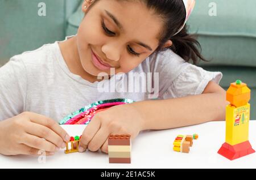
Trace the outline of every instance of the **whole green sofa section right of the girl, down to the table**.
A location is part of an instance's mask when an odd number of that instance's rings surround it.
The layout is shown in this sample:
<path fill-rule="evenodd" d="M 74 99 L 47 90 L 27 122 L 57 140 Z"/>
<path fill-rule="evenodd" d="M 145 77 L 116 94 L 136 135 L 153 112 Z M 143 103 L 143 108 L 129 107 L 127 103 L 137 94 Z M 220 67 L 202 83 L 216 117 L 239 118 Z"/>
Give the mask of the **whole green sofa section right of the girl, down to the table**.
<path fill-rule="evenodd" d="M 214 4 L 212 3 L 214 2 Z M 216 16 L 212 15 L 216 7 Z M 210 62 L 199 66 L 221 71 L 221 87 L 241 79 L 251 89 L 251 119 L 256 119 L 256 1 L 199 0 L 188 21 Z M 209 13 L 210 12 L 210 13 Z M 210 14 L 210 15 L 209 15 Z"/>

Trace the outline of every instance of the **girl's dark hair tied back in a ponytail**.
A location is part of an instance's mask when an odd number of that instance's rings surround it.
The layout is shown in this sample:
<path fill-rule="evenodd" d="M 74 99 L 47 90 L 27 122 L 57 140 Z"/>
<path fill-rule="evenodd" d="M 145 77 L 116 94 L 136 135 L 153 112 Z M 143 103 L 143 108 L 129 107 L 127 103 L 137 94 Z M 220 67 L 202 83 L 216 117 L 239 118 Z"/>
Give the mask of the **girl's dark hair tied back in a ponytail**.
<path fill-rule="evenodd" d="M 94 3 L 96 3 L 95 0 Z M 153 10 L 155 15 L 163 20 L 163 27 L 159 32 L 159 46 L 155 50 L 156 53 L 171 49 L 178 54 L 186 62 L 192 60 L 194 64 L 198 60 L 207 61 L 201 55 L 201 46 L 196 40 L 196 35 L 187 33 L 187 26 L 175 35 L 185 21 L 185 6 L 182 0 L 118 0 L 118 1 L 140 1 L 143 2 L 149 10 Z M 172 41 L 172 45 L 163 48 L 168 41 Z"/>

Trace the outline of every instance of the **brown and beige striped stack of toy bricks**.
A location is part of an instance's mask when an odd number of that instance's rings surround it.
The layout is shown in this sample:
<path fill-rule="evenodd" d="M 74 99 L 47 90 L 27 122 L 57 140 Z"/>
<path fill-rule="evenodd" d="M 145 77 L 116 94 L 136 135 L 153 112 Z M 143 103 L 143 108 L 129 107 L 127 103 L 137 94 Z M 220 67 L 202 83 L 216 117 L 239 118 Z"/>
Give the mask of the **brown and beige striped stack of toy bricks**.
<path fill-rule="evenodd" d="M 109 163 L 131 163 L 130 135 L 110 135 L 108 138 Z"/>

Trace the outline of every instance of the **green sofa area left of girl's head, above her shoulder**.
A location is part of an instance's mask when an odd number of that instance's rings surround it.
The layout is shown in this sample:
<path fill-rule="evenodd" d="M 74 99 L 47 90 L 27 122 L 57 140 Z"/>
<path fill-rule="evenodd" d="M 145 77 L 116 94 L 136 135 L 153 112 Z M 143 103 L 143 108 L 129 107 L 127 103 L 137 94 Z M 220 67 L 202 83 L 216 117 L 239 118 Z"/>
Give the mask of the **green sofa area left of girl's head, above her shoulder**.
<path fill-rule="evenodd" d="M 10 57 L 40 46 L 64 40 L 67 17 L 82 0 L 19 0 L 1 1 L 0 6 L 0 66 Z M 46 16 L 38 10 L 46 5 Z"/>

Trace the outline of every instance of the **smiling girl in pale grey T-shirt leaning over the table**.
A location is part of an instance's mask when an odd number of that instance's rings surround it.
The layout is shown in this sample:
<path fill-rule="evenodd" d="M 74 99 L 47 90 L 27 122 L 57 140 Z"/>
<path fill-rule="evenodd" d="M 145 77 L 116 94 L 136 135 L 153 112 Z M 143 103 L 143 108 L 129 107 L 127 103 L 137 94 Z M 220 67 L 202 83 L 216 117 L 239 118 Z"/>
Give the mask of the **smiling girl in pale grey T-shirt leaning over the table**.
<path fill-rule="evenodd" d="M 112 98 L 136 102 L 97 113 L 82 134 L 80 152 L 108 153 L 109 134 L 135 138 L 142 130 L 224 119 L 221 72 L 188 63 L 205 60 L 197 50 L 199 43 L 184 27 L 194 4 L 85 0 L 86 15 L 76 36 L 15 55 L 0 68 L 0 153 L 37 155 L 44 149 L 53 155 L 69 140 L 57 125 L 61 118 Z M 135 82 L 141 89 L 154 84 L 157 100 L 149 96 L 152 91 L 126 91 L 127 81 L 129 88 L 133 85 L 127 75 L 143 73 L 150 78 L 143 81 L 139 76 Z M 115 82 L 115 91 L 100 91 L 109 82 Z"/>

